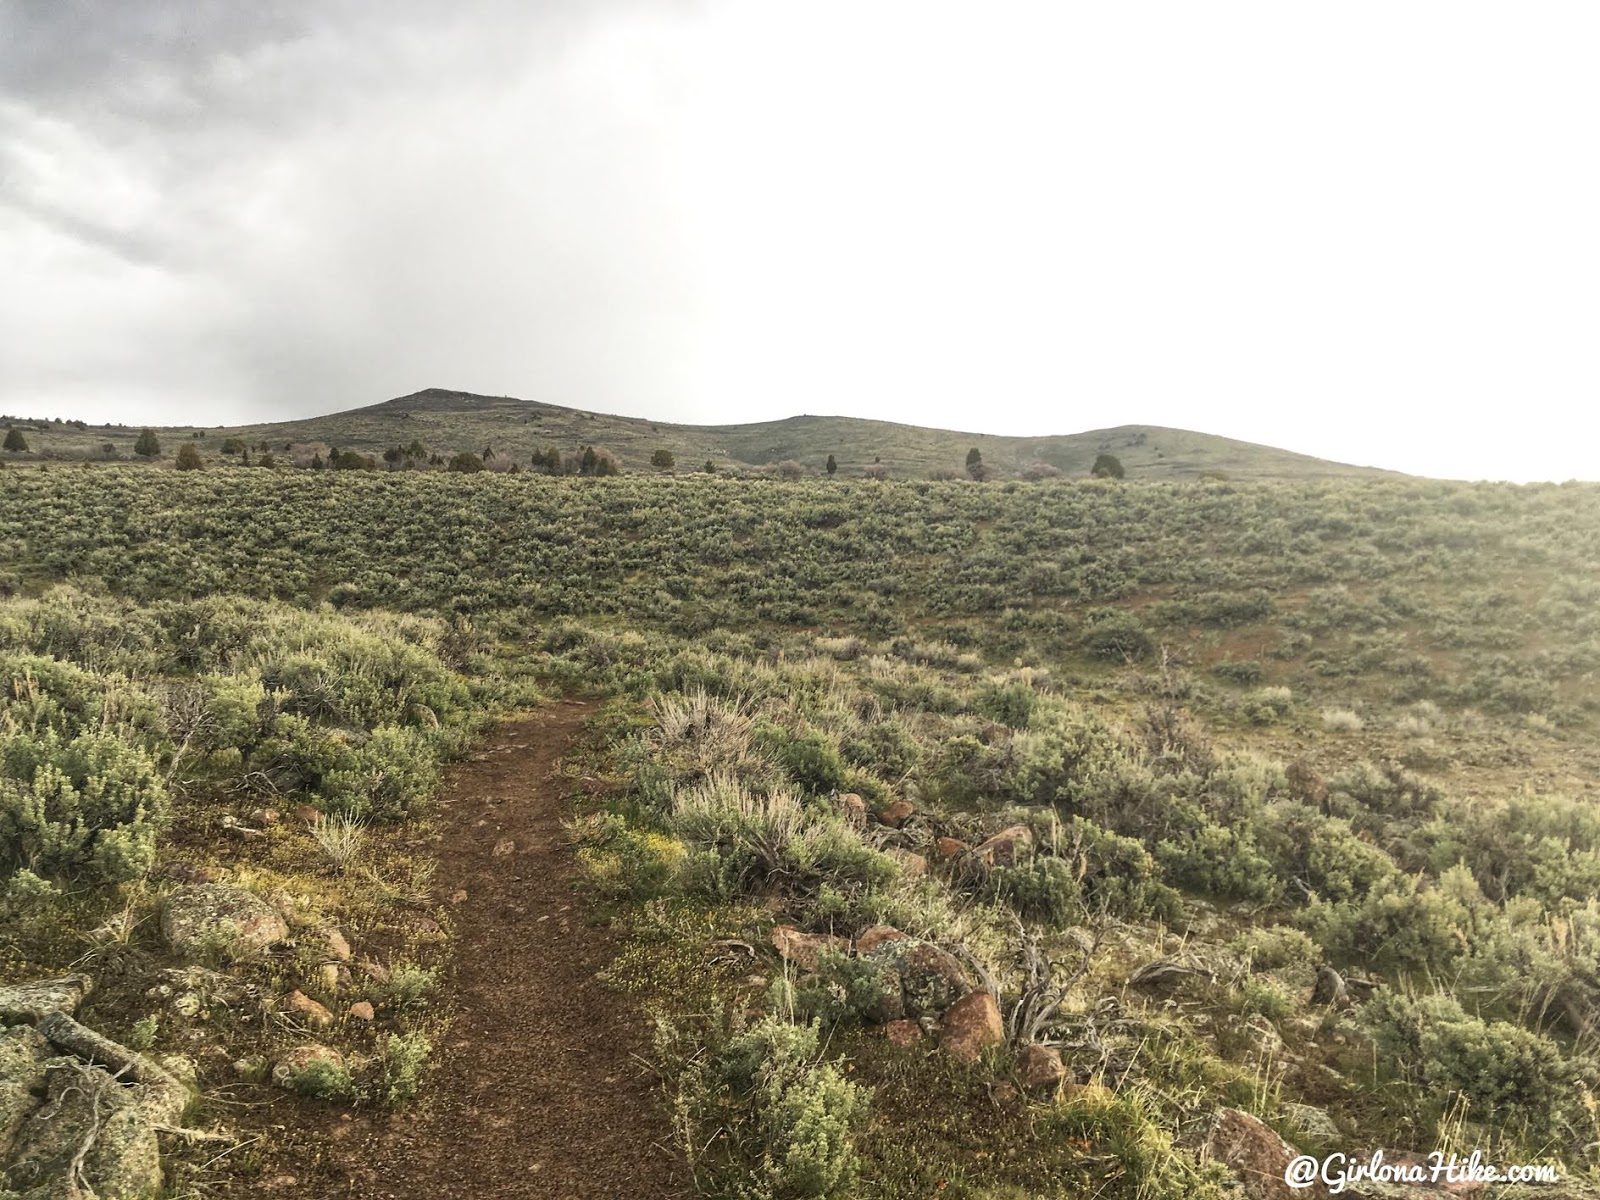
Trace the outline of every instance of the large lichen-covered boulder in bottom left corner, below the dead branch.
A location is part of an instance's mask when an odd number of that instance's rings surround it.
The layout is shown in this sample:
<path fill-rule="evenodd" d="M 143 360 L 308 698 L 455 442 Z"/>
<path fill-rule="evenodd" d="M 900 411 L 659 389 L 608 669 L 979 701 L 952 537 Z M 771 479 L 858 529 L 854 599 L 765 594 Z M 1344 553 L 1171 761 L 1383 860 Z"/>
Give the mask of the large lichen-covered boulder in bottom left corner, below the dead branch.
<path fill-rule="evenodd" d="M 162 1186 L 155 1123 L 138 1088 L 75 1059 L 50 1059 L 45 1102 L 18 1130 L 6 1182 L 19 1190 L 70 1179 L 72 1163 L 96 1131 L 80 1166 L 91 1195 L 149 1197 Z M 82 1195 L 43 1190 L 40 1195 Z"/>

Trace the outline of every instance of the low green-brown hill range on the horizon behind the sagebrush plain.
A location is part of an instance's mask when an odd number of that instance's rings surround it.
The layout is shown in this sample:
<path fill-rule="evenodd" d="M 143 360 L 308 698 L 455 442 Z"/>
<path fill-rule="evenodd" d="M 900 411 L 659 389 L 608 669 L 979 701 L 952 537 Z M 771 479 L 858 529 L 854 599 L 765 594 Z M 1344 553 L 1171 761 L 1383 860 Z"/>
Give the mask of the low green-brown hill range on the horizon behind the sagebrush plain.
<path fill-rule="evenodd" d="M 133 442 L 139 430 L 133 427 L 42 421 L 18 421 L 16 426 L 27 437 L 29 451 L 0 458 L 136 458 Z M 651 454 L 669 450 L 678 470 L 698 470 L 707 461 L 720 470 L 739 470 L 789 459 L 821 470 L 827 456 L 834 454 L 840 472 L 846 475 L 859 475 L 866 467 L 878 464 L 891 477 L 920 478 L 936 470 L 960 472 L 966 451 L 978 446 L 984 464 L 1000 478 L 1016 477 L 1037 462 L 1067 477 L 1082 477 L 1101 453 L 1115 454 L 1130 478 L 1195 478 L 1206 472 L 1230 478 L 1394 475 L 1374 467 L 1330 462 L 1274 446 L 1162 426 L 1118 426 L 1056 437 L 994 437 L 850 416 L 680 426 L 440 387 L 301 421 L 205 429 L 178 426 L 158 429 L 157 435 L 168 462 L 182 442 L 197 442 L 210 456 L 219 453 L 226 440 L 238 438 L 251 448 L 266 443 L 277 451 L 288 443 L 315 442 L 363 454 L 381 454 L 389 446 L 421 442 L 429 451 L 446 458 L 459 451 L 482 453 L 493 448 L 522 464 L 534 451 L 550 445 L 563 451 L 594 445 L 610 450 L 624 470 L 651 470 Z"/>

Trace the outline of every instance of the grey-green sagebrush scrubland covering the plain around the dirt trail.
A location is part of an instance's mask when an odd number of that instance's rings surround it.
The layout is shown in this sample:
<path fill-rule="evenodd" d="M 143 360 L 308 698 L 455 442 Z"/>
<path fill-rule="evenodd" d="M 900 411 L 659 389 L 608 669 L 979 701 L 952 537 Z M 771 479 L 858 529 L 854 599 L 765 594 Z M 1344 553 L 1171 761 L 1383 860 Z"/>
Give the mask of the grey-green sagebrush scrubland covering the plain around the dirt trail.
<path fill-rule="evenodd" d="M 438 762 L 534 680 L 610 698 L 573 829 L 707 1195 L 1221 1194 L 1219 1107 L 1314 1154 L 1592 1171 L 1597 486 L 0 488 L 3 970 L 99 930 L 130 1038 L 187 1027 L 142 1000 L 141 917 L 227 846 L 296 891 L 306 946 L 389 950 L 379 1019 L 306 1090 L 414 1091 L 438 926 L 413 835 Z M 885 990 L 910 968 L 864 949 L 882 926 L 992 990 L 998 1043 L 890 1045 L 934 1010 Z M 302 957 L 242 970 L 315 998 Z"/>

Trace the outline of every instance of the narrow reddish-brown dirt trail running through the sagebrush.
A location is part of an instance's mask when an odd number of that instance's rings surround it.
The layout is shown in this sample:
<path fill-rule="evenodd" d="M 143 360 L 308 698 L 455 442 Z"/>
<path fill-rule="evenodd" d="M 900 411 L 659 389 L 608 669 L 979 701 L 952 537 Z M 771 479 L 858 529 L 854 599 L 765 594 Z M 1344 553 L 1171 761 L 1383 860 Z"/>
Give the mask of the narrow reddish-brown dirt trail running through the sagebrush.
<path fill-rule="evenodd" d="M 685 1195 L 648 1074 L 632 1058 L 648 1048 L 648 1029 L 595 979 L 616 947 L 584 922 L 560 826 L 558 762 L 590 714 L 550 704 L 501 726 L 450 773 L 437 880 L 446 899 L 466 891 L 453 907 L 454 1022 L 424 1104 L 336 1126 L 323 1178 L 302 1178 L 301 1195 Z"/>

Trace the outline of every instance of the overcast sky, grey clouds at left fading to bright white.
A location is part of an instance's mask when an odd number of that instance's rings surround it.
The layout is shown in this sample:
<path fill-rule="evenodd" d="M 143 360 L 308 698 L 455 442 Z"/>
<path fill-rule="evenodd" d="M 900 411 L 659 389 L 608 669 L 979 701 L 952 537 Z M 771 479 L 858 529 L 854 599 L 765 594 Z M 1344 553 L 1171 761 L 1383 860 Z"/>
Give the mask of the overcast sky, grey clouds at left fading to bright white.
<path fill-rule="evenodd" d="M 0 0 L 0 411 L 1600 478 L 1600 6 Z"/>

